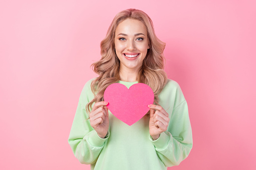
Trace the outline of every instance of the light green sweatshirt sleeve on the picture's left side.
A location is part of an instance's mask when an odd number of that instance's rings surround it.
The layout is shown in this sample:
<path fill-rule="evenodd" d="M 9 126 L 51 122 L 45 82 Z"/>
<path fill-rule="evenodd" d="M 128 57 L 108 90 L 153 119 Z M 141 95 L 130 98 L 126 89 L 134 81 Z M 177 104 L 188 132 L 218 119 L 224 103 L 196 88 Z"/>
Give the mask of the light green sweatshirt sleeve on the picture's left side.
<path fill-rule="evenodd" d="M 91 126 L 90 120 L 86 120 L 89 118 L 86 105 L 89 102 L 89 96 L 93 95 L 90 85 L 91 82 L 88 82 L 82 89 L 68 137 L 68 143 L 75 157 L 83 164 L 92 164 L 97 160 L 110 135 L 108 131 L 105 138 L 99 137 Z"/>

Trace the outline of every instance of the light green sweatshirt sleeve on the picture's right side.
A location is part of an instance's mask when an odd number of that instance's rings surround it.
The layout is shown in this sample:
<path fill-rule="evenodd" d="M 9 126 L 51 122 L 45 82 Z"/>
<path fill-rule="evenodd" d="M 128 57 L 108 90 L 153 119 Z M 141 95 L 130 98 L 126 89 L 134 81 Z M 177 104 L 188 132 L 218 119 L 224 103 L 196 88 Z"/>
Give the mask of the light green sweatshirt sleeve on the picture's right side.
<path fill-rule="evenodd" d="M 184 97 L 182 92 L 181 96 Z M 158 139 L 153 140 L 151 136 L 149 139 L 164 165 L 175 166 L 188 157 L 193 145 L 187 101 L 176 104 L 172 113 L 169 113 L 169 118 L 167 130 Z"/>

